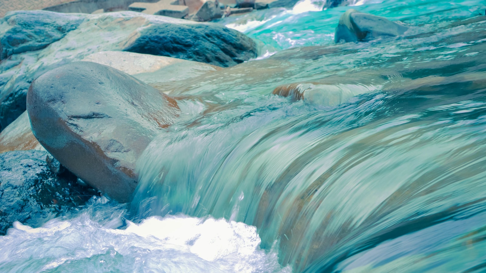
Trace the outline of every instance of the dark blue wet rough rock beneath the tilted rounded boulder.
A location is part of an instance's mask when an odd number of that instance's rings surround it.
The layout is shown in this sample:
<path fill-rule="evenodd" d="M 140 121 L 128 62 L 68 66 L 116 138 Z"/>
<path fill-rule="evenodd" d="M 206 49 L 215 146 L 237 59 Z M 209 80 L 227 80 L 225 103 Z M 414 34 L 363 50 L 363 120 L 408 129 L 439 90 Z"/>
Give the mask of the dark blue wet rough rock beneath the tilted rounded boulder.
<path fill-rule="evenodd" d="M 78 186 L 71 173 L 52 172 L 48 156 L 36 150 L 0 154 L 0 235 L 15 221 L 38 227 L 96 194 Z"/>

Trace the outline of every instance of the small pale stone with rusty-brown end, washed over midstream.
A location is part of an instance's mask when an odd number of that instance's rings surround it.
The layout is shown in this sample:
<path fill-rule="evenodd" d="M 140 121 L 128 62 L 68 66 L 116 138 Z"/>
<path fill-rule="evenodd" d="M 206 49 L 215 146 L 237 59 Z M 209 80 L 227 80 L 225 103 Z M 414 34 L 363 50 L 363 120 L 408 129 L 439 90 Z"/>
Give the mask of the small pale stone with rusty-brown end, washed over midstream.
<path fill-rule="evenodd" d="M 346 102 L 359 94 L 378 91 L 379 88 L 352 84 L 294 83 L 277 86 L 272 94 L 291 97 L 323 106 L 334 106 Z"/>

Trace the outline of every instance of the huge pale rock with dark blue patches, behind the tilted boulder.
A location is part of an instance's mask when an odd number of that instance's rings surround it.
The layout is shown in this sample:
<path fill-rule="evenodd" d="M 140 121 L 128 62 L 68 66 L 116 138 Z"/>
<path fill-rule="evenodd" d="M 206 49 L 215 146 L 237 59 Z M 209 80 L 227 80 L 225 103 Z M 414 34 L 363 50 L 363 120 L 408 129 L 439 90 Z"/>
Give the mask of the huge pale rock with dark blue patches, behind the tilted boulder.
<path fill-rule="evenodd" d="M 255 43 L 235 30 L 137 12 L 18 11 L 0 19 L 0 26 L 5 56 L 0 62 L 0 131 L 25 111 L 27 90 L 35 78 L 92 53 L 126 50 L 218 66 L 256 56 Z"/>

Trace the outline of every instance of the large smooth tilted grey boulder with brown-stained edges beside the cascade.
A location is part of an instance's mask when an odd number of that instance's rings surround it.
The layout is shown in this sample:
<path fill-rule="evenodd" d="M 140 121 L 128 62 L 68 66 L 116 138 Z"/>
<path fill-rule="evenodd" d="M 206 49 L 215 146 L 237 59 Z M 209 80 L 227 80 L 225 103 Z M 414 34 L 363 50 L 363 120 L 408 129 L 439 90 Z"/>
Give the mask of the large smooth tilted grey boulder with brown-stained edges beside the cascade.
<path fill-rule="evenodd" d="M 27 96 L 32 131 L 63 166 L 127 202 L 139 154 L 178 116 L 176 102 L 115 68 L 74 62 L 35 79 Z"/>

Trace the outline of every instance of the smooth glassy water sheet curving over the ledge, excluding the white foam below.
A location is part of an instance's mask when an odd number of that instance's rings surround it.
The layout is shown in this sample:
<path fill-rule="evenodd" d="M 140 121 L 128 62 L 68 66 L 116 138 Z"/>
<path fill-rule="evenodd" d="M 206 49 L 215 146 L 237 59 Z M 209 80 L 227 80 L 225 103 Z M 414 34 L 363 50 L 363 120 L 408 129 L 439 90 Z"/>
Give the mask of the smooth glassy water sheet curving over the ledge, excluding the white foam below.
<path fill-rule="evenodd" d="M 281 51 L 181 85 L 188 118 L 140 159 L 139 214 L 256 226 L 295 272 L 483 270 L 485 20 L 440 26 Z M 328 85 L 367 91 L 334 104 L 269 95 L 295 82 L 323 97 Z"/>

